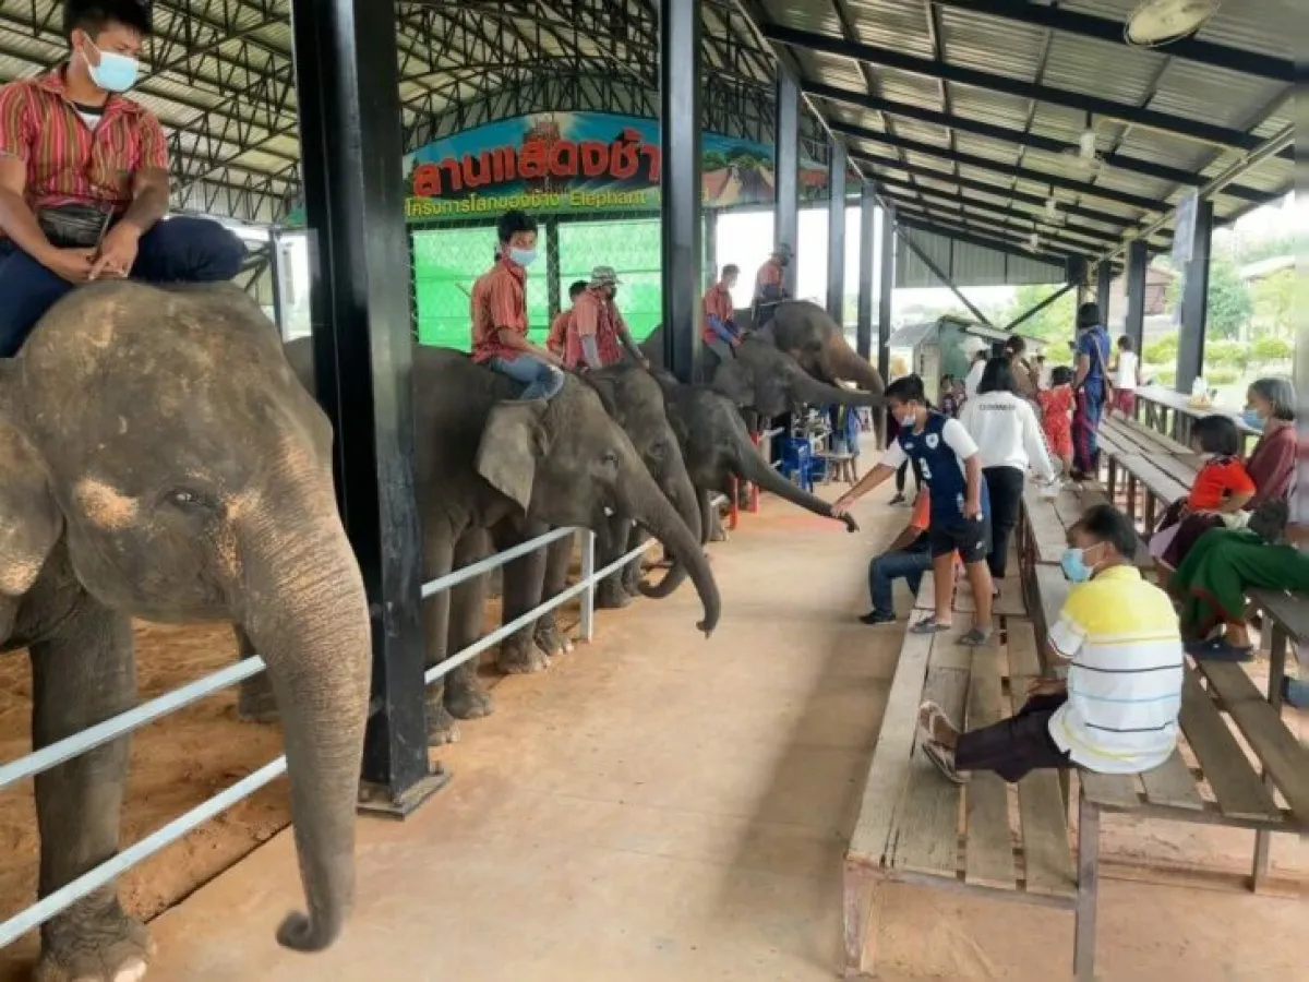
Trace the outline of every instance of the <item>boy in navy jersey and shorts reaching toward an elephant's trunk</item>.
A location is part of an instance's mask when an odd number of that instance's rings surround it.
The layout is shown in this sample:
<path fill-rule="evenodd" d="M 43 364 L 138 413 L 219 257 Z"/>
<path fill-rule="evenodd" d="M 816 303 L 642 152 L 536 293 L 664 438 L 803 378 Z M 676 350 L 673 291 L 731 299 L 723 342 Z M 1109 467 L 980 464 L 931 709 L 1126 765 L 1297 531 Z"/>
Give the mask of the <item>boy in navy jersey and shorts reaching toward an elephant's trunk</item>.
<path fill-rule="evenodd" d="M 931 488 L 932 518 L 928 536 L 932 550 L 932 579 L 936 585 L 936 614 L 908 630 L 937 634 L 954 626 L 950 597 L 954 579 L 953 555 L 969 573 L 977 617 L 973 630 L 959 644 L 980 647 L 991 643 L 991 572 L 986 556 L 991 549 L 991 501 L 982 479 L 982 458 L 963 424 L 948 419 L 927 403 L 923 380 L 916 374 L 897 378 L 886 388 L 886 406 L 899 420 L 899 437 L 882 454 L 881 462 L 833 505 L 839 517 L 850 507 L 912 460 Z"/>

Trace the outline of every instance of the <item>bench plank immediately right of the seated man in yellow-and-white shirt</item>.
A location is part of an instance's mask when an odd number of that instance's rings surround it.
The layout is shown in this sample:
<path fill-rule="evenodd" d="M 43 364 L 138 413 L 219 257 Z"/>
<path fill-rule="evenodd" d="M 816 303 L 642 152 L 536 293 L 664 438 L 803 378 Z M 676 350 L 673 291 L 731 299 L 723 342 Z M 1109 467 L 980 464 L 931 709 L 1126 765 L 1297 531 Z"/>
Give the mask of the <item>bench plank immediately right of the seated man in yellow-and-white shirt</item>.
<path fill-rule="evenodd" d="M 1282 816 L 1213 699 L 1190 668 L 1182 680 L 1181 723 L 1186 742 L 1195 752 L 1200 771 L 1210 782 L 1223 814 L 1245 820 Z"/>

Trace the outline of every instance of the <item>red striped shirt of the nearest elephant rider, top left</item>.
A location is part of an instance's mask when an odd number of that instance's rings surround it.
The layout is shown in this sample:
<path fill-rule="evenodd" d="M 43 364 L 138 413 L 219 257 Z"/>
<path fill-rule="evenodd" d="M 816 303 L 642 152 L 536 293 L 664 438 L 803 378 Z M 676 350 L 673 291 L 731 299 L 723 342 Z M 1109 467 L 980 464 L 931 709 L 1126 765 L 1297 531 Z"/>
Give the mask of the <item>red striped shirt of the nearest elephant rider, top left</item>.
<path fill-rule="evenodd" d="M 0 156 L 27 165 L 25 198 L 35 211 L 96 204 L 119 215 L 132 200 L 132 178 L 168 170 L 160 120 L 122 96 L 110 96 L 90 130 L 68 98 L 64 67 L 0 88 Z"/>

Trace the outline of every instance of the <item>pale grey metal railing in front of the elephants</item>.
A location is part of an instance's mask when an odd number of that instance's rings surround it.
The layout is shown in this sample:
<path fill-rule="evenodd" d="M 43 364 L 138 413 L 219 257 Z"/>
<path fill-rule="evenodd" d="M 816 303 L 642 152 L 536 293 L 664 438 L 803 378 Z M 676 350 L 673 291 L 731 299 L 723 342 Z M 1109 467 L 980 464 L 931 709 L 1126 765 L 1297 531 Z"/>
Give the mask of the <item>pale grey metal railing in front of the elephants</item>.
<path fill-rule="evenodd" d="M 429 583 L 424 583 L 423 598 L 425 600 L 436 593 L 440 593 L 441 591 L 448 591 L 456 584 L 463 583 L 474 576 L 487 573 L 491 570 L 504 566 L 518 556 L 533 553 L 537 549 L 545 549 L 546 546 L 572 536 L 576 532 L 580 532 L 583 537 L 581 579 L 576 584 L 533 608 L 526 614 L 522 614 L 521 617 L 517 617 L 509 623 L 499 627 L 486 638 L 470 644 L 467 648 L 456 652 L 439 665 L 432 666 L 424 673 L 424 682 L 431 683 L 436 681 L 466 661 L 475 659 L 493 644 L 499 644 L 511 634 L 528 626 L 542 614 L 567 604 L 577 596 L 581 596 L 583 598 L 580 625 L 581 638 L 583 640 L 592 640 L 594 636 L 596 621 L 596 585 L 610 573 L 617 572 L 627 563 L 640 556 L 647 549 L 653 546 L 657 539 L 651 538 L 636 549 L 626 553 L 619 559 L 615 559 L 603 568 L 597 570 L 596 534 L 593 532 L 588 529 L 572 528 L 554 529 L 529 542 L 513 546 L 503 553 L 487 556 L 476 563 L 456 570 L 452 573 Z M 97 746 L 127 736 L 128 733 L 168 716 L 171 712 L 177 712 L 199 699 L 212 695 L 220 689 L 226 689 L 228 686 L 237 685 L 238 682 L 251 678 L 253 676 L 263 672 L 263 669 L 264 664 L 262 659 L 243 659 L 220 672 L 215 672 L 204 678 L 198 678 L 181 689 L 175 689 L 151 699 L 149 702 L 141 703 L 135 708 L 120 712 L 117 716 L 111 716 L 102 723 L 97 723 L 80 733 L 73 733 L 72 736 L 64 737 L 50 746 L 45 746 L 9 763 L 0 765 L 0 792 L 25 778 L 33 778 L 38 774 L 48 771 L 51 767 L 58 767 L 60 763 L 77 757 L 79 754 L 84 754 Z M 105 860 L 94 869 L 82 873 L 72 882 L 60 886 L 48 897 L 42 898 L 33 906 L 20 911 L 4 923 L 0 923 L 0 948 L 4 948 L 17 940 L 27 931 L 39 927 L 60 911 L 80 901 L 82 897 L 86 897 L 94 890 L 98 890 L 101 886 L 105 886 L 127 869 L 173 845 L 192 829 L 196 829 L 211 818 L 225 812 L 228 808 L 232 808 L 232 805 L 249 797 L 259 788 L 272 783 L 285 773 L 287 758 L 283 755 L 242 778 L 236 784 L 219 792 L 213 797 L 207 799 L 185 814 L 178 816 L 168 825 L 143 838 L 140 842 L 128 846 L 111 859 Z"/>

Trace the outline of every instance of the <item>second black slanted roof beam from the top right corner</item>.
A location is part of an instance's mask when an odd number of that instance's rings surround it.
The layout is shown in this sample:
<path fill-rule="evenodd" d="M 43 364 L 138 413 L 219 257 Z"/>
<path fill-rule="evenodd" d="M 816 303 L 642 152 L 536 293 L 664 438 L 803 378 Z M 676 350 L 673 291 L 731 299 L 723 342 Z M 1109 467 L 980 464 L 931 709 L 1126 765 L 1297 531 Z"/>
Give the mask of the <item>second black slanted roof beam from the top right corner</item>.
<path fill-rule="evenodd" d="M 806 48 L 825 55 L 835 55 L 836 58 L 848 58 L 852 62 L 880 64 L 902 72 L 922 75 L 927 79 L 944 79 L 945 81 L 956 82 L 958 85 L 971 85 L 974 88 L 988 89 L 991 92 L 1003 92 L 1017 98 L 1047 102 L 1052 106 L 1063 106 L 1079 113 L 1090 113 L 1093 115 L 1117 119 L 1123 123 L 1130 123 L 1131 126 L 1143 126 L 1149 130 L 1157 130 L 1161 134 L 1169 134 L 1172 136 L 1179 136 L 1198 143 L 1228 147 L 1238 151 L 1253 151 L 1263 143 L 1263 140 L 1258 136 L 1241 130 L 1232 130 L 1225 126 L 1215 126 L 1212 123 L 1204 123 L 1195 119 L 1186 119 L 1185 117 L 1174 117 L 1168 113 L 1160 113 L 1153 109 L 1141 109 L 1126 102 L 1114 102 L 1113 100 L 1085 96 L 1080 92 L 1069 92 L 1067 89 L 1055 89 L 1049 85 L 1039 85 L 1037 82 L 1026 82 L 1004 75 L 996 75 L 994 72 L 983 72 L 977 68 L 965 68 L 962 65 L 936 62 L 929 58 L 918 58 L 915 55 L 907 55 L 903 51 L 877 47 L 876 45 L 833 38 L 826 34 L 796 30 L 795 27 L 784 27 L 778 24 L 766 24 L 762 26 L 762 31 L 770 41 L 788 47 Z"/>

